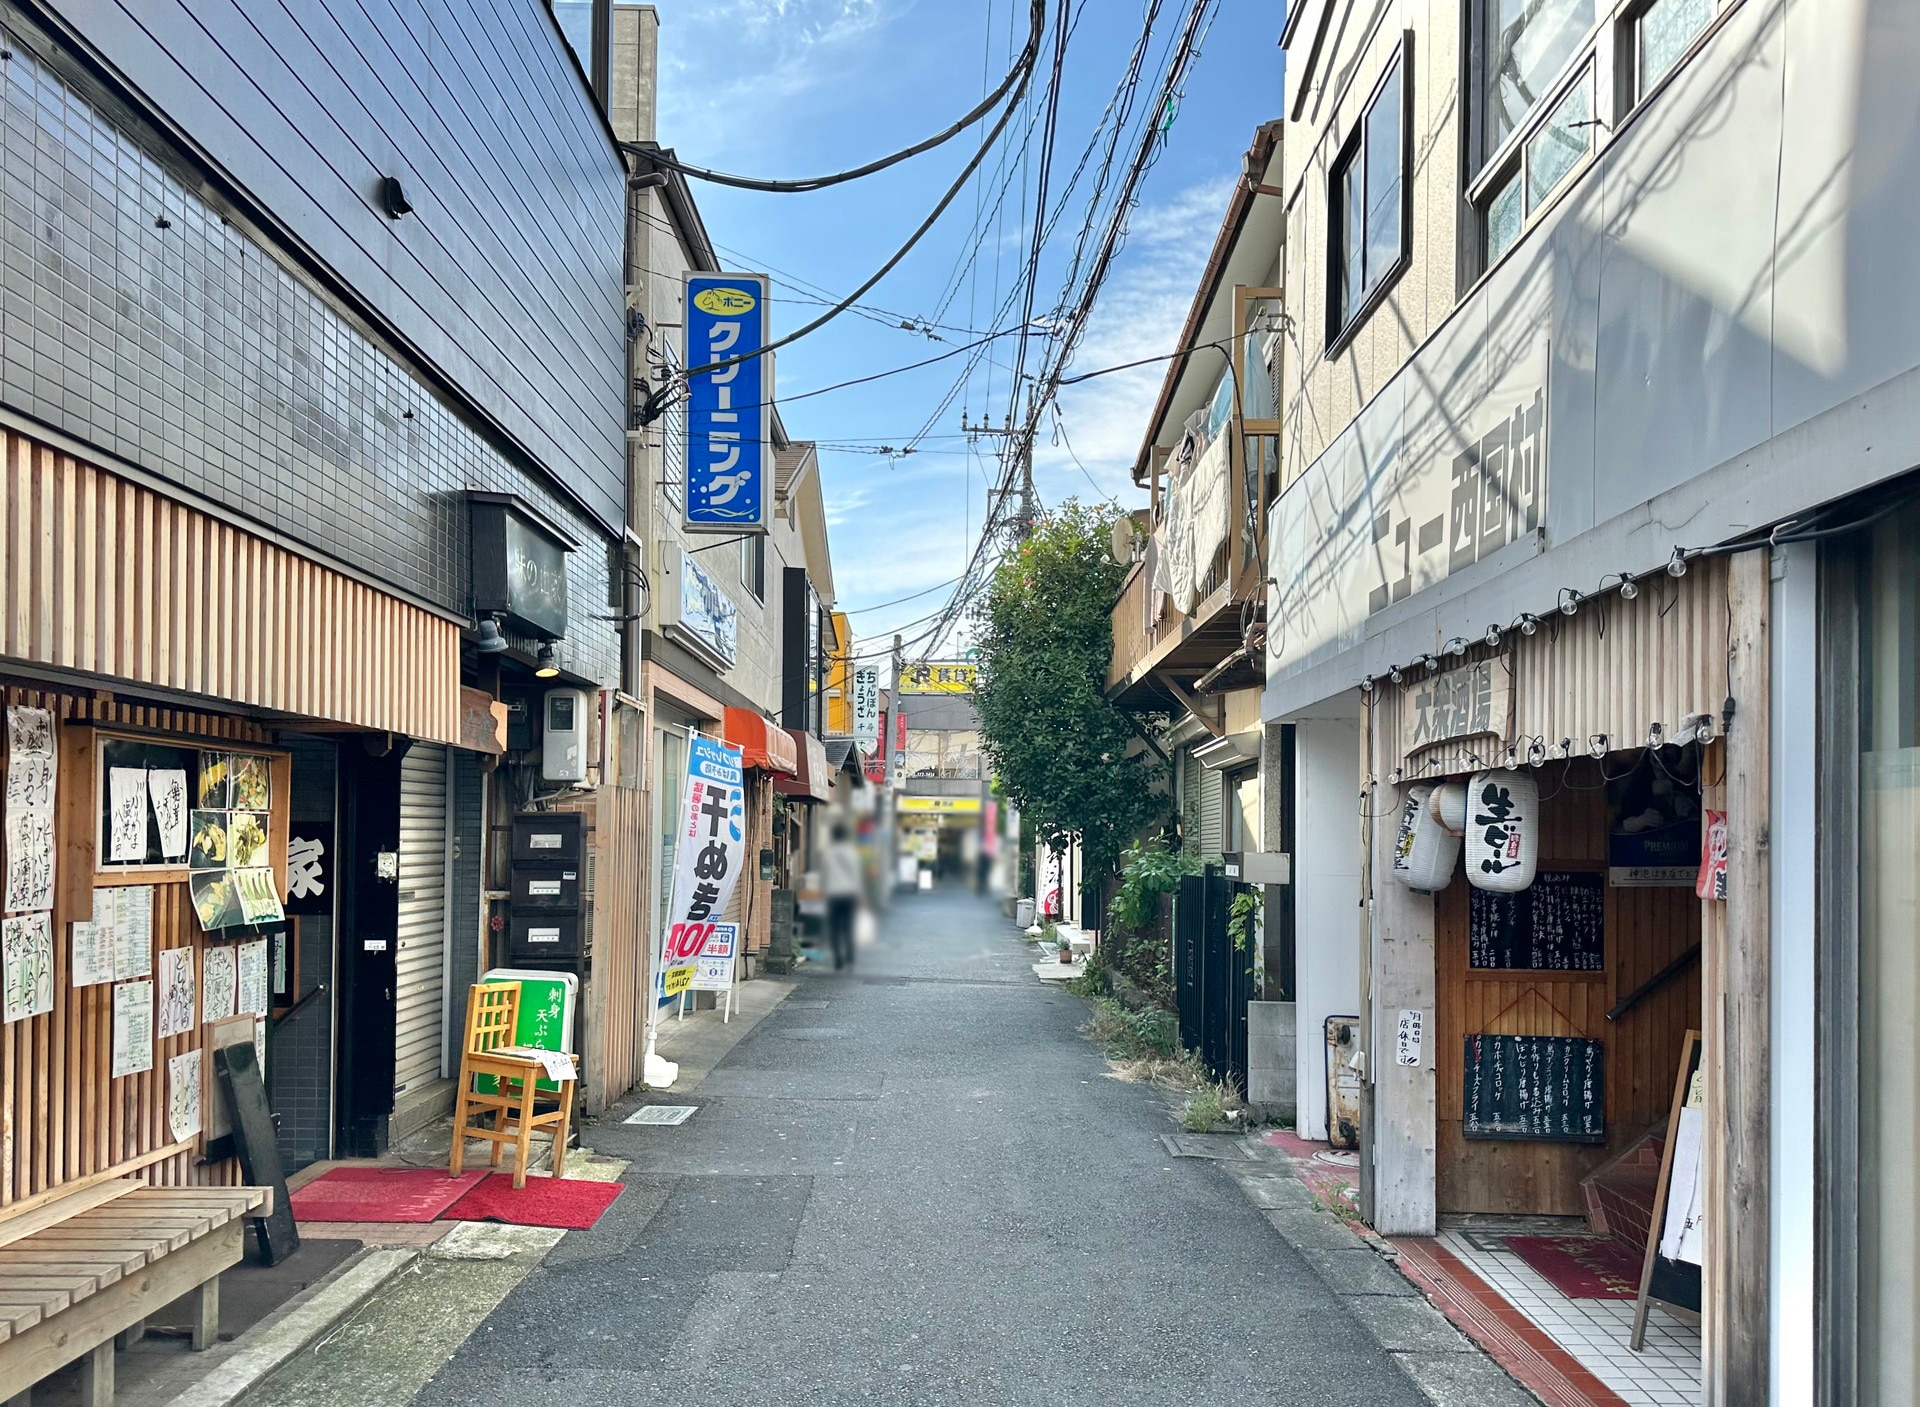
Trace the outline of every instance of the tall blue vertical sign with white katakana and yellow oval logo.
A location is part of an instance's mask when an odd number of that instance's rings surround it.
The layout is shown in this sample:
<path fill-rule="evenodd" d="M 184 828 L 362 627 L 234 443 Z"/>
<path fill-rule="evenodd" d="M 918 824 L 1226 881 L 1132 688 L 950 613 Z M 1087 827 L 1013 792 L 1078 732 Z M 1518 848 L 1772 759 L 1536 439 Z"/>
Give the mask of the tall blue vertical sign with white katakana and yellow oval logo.
<path fill-rule="evenodd" d="M 687 274 L 685 367 L 728 363 L 687 376 L 687 532 L 766 532 L 772 505 L 774 359 L 766 274 Z M 735 361 L 735 357 L 749 357 Z"/>

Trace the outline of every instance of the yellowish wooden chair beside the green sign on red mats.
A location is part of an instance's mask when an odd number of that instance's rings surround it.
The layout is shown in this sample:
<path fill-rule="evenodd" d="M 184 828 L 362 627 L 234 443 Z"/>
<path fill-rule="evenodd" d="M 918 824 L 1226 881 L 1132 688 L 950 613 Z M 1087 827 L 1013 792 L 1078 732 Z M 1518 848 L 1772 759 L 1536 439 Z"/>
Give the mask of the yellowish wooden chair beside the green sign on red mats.
<path fill-rule="evenodd" d="M 559 1081 L 557 1108 L 536 1111 L 540 1079 L 547 1073 L 540 1058 L 513 1044 L 520 1023 L 520 983 L 474 983 L 467 992 L 467 1040 L 461 1046 L 461 1085 L 453 1106 L 453 1161 L 459 1177 L 468 1138 L 493 1144 L 488 1167 L 499 1167 L 507 1144 L 515 1146 L 513 1184 L 526 1186 L 526 1159 L 536 1129 L 553 1133 L 553 1177 L 566 1173 L 566 1133 L 574 1121 L 578 1060 L 566 1056 L 572 1073 Z M 490 1079 L 492 1088 L 480 1088 Z M 480 1117 L 468 1127 L 468 1119 Z M 492 1127 L 488 1125 L 492 1115 Z"/>

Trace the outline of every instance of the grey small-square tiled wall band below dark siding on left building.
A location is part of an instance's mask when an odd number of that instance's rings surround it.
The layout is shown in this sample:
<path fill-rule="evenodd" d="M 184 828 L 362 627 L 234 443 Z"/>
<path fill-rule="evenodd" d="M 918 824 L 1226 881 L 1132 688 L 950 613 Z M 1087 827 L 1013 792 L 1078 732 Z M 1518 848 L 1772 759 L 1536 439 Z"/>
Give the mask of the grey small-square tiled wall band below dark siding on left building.
<path fill-rule="evenodd" d="M 614 683 L 586 514 L 23 38 L 0 36 L 0 403 L 461 614 L 461 491 L 518 493 L 582 541 L 563 664 Z"/>

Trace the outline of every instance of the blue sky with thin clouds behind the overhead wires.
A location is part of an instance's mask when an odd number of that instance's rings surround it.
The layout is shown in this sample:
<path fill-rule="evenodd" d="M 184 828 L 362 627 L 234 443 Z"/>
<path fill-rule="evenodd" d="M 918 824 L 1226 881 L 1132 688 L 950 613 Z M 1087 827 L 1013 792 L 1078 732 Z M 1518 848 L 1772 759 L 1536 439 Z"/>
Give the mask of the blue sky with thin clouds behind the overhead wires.
<path fill-rule="evenodd" d="M 1062 83 L 1056 190 L 1058 173 L 1079 159 L 1114 94 L 1144 10 L 1146 0 L 1077 4 Z M 1146 84 L 1158 81 L 1162 36 L 1171 35 L 1185 10 L 1181 0 L 1162 4 Z M 845 169 L 939 131 L 1000 79 L 1027 23 L 1025 0 L 662 0 L 659 12 L 660 142 L 685 161 L 764 177 Z M 1010 36 L 1010 25 L 1018 25 L 1018 36 Z M 1279 31 L 1275 0 L 1219 6 L 1073 370 L 1171 349 L 1240 154 L 1254 127 L 1279 115 Z M 1150 98 L 1142 94 L 1144 102 Z M 1016 117 L 1008 136 L 1020 127 Z M 695 182 L 695 196 L 730 267 L 774 276 L 780 334 L 822 311 L 808 299 L 822 292 L 839 296 L 879 267 L 966 165 L 983 131 L 972 129 L 927 155 L 824 192 L 770 196 Z M 1004 136 L 1002 148 L 1018 142 Z M 985 234 L 975 234 L 970 186 L 908 259 L 862 299 L 939 324 L 939 342 L 889 326 L 883 315 L 849 311 L 778 353 L 778 393 L 789 397 L 950 351 L 972 340 L 966 328 L 993 330 L 995 290 L 1006 296 L 1025 251 L 1020 190 L 1031 190 L 1031 159 L 1029 152 L 1027 180 L 1012 184 L 1008 209 L 987 223 Z M 991 203 L 998 184 L 996 167 L 998 155 L 983 167 L 983 203 Z M 1060 288 L 1056 261 L 1077 232 L 1083 202 L 1068 209 L 1043 259 L 1037 313 L 1044 313 Z M 998 326 L 1012 321 L 1018 313 Z M 993 346 L 995 361 L 1004 363 L 1012 340 Z M 862 639 L 899 628 L 914 633 L 910 622 L 939 607 L 945 589 L 891 608 L 870 607 L 958 576 L 979 532 L 996 472 L 995 441 L 970 447 L 960 417 L 979 420 L 985 413 L 998 420 L 1006 409 L 1006 370 L 981 365 L 937 417 L 918 453 L 904 459 L 862 453 L 899 447 L 920 430 L 964 363 L 966 357 L 952 357 L 781 407 L 791 436 L 839 445 L 820 455 L 833 578 L 839 605 L 854 612 Z M 1146 367 L 1062 393 L 1066 443 L 1054 443 L 1048 418 L 1035 461 L 1044 503 L 1069 495 L 1117 497 L 1127 507 L 1140 501 L 1127 470 L 1162 374 L 1162 367 Z"/>

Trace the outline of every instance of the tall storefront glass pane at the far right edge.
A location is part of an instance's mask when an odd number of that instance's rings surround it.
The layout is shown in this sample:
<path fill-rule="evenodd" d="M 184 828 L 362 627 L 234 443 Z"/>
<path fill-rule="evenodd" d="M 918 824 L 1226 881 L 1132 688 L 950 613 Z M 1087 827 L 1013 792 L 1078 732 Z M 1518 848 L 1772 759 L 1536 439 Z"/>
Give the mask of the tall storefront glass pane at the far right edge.
<path fill-rule="evenodd" d="M 1920 1390 L 1920 514 L 1874 530 L 1860 599 L 1859 1399 Z"/>

